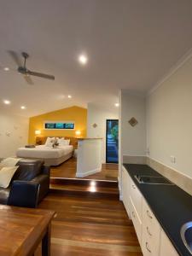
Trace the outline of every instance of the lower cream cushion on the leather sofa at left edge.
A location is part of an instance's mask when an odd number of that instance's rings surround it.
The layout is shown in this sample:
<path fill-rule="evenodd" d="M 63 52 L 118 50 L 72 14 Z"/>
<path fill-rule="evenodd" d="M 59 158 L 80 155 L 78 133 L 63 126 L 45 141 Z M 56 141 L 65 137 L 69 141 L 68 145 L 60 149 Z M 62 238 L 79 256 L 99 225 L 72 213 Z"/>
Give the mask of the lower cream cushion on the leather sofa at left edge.
<path fill-rule="evenodd" d="M 0 187 L 6 189 L 9 187 L 12 177 L 19 166 L 6 166 L 0 168 Z"/>

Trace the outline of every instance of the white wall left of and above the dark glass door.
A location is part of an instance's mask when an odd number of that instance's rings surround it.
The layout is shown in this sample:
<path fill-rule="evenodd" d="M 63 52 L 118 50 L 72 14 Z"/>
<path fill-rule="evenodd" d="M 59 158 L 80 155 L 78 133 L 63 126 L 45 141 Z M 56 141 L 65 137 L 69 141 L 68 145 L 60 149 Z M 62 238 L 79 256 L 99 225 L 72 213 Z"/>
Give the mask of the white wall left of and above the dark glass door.
<path fill-rule="evenodd" d="M 102 137 L 102 163 L 106 162 L 106 120 L 119 119 L 119 109 L 113 106 L 88 103 L 87 137 Z M 96 128 L 92 125 L 96 124 Z"/>

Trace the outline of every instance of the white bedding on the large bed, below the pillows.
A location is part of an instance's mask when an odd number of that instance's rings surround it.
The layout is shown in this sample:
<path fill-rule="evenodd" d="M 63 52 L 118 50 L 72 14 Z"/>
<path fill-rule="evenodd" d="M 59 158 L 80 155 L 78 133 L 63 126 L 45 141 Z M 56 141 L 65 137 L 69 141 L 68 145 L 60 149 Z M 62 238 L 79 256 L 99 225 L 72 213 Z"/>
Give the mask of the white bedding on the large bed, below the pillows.
<path fill-rule="evenodd" d="M 45 147 L 44 145 L 36 148 L 18 148 L 17 157 L 23 158 L 40 158 L 40 159 L 57 159 L 73 152 L 73 145 L 60 146 L 57 148 Z"/>

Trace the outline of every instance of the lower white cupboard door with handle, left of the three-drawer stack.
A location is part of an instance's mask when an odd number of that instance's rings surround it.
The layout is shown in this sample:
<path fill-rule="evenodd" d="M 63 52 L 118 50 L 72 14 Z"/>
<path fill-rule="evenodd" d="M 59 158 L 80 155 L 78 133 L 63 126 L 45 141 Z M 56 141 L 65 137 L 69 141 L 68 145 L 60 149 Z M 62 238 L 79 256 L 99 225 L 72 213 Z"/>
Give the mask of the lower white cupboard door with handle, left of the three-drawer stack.
<path fill-rule="evenodd" d="M 139 218 L 138 214 L 137 214 L 137 210 L 136 208 L 134 207 L 133 205 L 133 202 L 130 198 L 130 207 L 131 207 L 131 219 L 132 219 L 132 222 L 134 224 L 134 227 L 135 227 L 135 230 L 136 230 L 136 233 L 137 233 L 137 238 L 138 238 L 138 241 L 139 243 L 141 244 L 141 241 L 142 241 L 142 221 L 141 219 Z"/>

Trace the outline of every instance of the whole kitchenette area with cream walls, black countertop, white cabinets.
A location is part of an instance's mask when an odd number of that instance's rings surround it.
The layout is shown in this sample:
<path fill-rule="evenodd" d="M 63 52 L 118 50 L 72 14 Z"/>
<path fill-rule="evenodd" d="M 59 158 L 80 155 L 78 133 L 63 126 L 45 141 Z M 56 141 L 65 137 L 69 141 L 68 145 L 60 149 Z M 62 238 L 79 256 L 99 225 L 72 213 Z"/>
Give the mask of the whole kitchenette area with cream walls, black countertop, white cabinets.
<path fill-rule="evenodd" d="M 192 255 L 191 70 L 190 56 L 147 95 L 119 92 L 120 200 L 143 256 Z"/>

